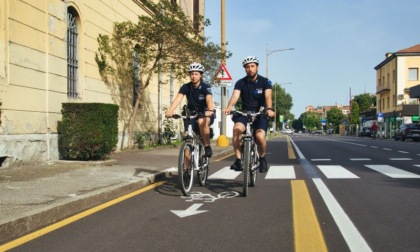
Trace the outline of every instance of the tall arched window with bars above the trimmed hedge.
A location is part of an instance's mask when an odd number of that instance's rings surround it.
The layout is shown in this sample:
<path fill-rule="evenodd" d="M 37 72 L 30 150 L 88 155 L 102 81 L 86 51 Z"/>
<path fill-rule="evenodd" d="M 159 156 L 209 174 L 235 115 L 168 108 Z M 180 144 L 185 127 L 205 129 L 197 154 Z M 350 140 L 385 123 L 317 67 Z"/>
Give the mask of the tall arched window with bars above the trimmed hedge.
<path fill-rule="evenodd" d="M 77 98 L 78 84 L 78 14 L 73 8 L 67 9 L 67 97 Z"/>

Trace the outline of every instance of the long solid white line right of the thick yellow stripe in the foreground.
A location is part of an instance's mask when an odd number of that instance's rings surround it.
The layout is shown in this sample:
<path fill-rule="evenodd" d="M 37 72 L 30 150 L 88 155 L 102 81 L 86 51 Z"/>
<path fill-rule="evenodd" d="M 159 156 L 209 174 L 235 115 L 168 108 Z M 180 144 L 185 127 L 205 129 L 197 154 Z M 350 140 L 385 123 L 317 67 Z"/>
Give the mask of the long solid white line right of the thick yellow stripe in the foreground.
<path fill-rule="evenodd" d="M 338 228 L 343 234 L 344 240 L 350 248 L 350 251 L 372 251 L 363 236 L 359 233 L 356 226 L 350 220 L 343 208 L 334 198 L 334 195 L 328 190 L 327 186 L 319 178 L 313 179 L 316 188 L 318 189 L 321 197 L 324 199 L 332 217 L 335 220 Z"/>

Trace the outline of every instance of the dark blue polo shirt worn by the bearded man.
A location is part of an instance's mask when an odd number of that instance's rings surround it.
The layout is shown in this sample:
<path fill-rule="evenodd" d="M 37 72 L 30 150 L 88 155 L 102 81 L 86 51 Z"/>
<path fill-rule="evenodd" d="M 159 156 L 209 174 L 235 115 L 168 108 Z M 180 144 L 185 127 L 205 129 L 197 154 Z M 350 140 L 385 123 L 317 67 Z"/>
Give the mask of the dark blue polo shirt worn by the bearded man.
<path fill-rule="evenodd" d="M 241 91 L 243 111 L 259 111 L 262 106 L 267 107 L 265 90 L 272 89 L 272 87 L 269 79 L 258 75 L 255 82 L 248 80 L 248 77 L 238 80 L 234 89 Z"/>

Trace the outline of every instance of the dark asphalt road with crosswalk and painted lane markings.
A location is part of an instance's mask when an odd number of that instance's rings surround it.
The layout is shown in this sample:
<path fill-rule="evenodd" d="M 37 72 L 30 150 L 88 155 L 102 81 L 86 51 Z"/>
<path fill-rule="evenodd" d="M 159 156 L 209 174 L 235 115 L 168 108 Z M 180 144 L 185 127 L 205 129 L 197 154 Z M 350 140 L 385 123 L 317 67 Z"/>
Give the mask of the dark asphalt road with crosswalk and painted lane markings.
<path fill-rule="evenodd" d="M 13 251 L 418 251 L 419 145 L 276 139 L 247 197 L 230 157 L 191 197 L 168 178 Z"/>

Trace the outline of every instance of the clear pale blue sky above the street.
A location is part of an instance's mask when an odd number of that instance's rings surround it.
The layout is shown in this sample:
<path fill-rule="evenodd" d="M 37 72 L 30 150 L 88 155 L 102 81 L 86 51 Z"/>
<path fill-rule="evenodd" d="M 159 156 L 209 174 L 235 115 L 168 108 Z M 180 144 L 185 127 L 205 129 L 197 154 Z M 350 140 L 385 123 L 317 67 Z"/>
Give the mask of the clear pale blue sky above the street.
<path fill-rule="evenodd" d="M 282 84 L 295 118 L 308 105 L 348 105 L 376 92 L 374 67 L 388 52 L 420 44 L 418 0 L 225 0 L 226 68 L 234 83 L 242 60 L 256 56 L 259 74 Z M 221 0 L 205 1 L 205 36 L 221 43 Z M 287 84 L 289 83 L 289 84 Z M 220 89 L 214 92 L 220 103 Z M 219 93 L 219 94 L 218 94 Z"/>

